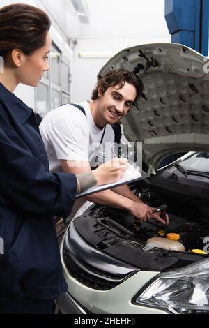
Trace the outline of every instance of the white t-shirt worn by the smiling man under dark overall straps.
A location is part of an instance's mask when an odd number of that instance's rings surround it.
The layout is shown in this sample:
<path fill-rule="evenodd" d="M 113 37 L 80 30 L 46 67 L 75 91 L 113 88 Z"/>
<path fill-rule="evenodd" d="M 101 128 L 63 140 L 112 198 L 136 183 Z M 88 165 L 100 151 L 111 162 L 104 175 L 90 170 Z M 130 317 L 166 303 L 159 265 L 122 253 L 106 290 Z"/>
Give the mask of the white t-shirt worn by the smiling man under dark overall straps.
<path fill-rule="evenodd" d="M 114 131 L 106 125 L 100 130 L 93 121 L 88 102 L 77 103 L 84 108 L 86 115 L 70 104 L 49 112 L 40 124 L 40 133 L 45 143 L 51 172 L 63 172 L 60 160 L 89 161 L 95 166 L 114 156 Z"/>

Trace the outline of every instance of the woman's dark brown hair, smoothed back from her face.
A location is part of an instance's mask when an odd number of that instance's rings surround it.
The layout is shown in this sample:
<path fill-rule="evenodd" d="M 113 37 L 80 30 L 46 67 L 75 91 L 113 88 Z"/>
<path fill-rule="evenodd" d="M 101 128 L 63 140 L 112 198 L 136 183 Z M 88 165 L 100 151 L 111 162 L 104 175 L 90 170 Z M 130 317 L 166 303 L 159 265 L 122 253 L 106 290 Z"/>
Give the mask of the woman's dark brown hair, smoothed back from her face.
<path fill-rule="evenodd" d="M 30 55 L 45 45 L 51 26 L 48 15 L 39 8 L 17 3 L 0 9 L 0 56 L 14 49 Z"/>

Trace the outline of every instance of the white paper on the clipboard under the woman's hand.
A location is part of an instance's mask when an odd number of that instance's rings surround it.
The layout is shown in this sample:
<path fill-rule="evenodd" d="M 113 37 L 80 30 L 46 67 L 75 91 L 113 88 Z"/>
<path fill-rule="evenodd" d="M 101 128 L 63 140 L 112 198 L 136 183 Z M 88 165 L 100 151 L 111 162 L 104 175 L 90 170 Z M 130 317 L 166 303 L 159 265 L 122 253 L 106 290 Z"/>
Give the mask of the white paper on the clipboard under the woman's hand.
<path fill-rule="evenodd" d="M 87 191 L 84 191 L 84 193 L 79 193 L 76 198 L 91 195 L 92 193 L 98 193 L 99 191 L 115 188 L 118 186 L 122 186 L 123 184 L 129 184 L 130 182 L 145 178 L 146 174 L 141 171 L 141 168 L 139 166 L 137 166 L 135 163 L 128 163 L 127 170 L 125 171 L 125 176 L 123 178 L 114 182 L 113 184 L 103 184 L 102 186 L 95 186 L 89 188 Z"/>

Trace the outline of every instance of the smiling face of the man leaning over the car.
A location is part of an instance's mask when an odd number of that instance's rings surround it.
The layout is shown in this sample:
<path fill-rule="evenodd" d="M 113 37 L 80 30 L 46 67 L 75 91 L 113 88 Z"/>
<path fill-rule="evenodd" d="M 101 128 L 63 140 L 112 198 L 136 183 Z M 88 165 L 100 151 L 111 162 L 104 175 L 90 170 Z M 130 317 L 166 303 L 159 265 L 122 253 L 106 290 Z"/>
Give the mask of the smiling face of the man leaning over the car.
<path fill-rule="evenodd" d="M 124 117 L 130 110 L 131 105 L 137 96 L 137 91 L 132 84 L 125 82 L 121 89 L 120 86 L 109 87 L 104 94 L 98 91 L 98 121 L 100 125 L 114 124 Z"/>

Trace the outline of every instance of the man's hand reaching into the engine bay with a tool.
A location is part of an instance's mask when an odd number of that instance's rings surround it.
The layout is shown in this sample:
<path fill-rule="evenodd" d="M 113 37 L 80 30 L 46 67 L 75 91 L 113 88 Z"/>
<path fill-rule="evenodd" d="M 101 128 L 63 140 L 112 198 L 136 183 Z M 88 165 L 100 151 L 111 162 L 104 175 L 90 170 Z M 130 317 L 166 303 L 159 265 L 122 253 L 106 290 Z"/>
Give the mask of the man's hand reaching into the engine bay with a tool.
<path fill-rule="evenodd" d="M 153 208 L 149 207 L 148 205 L 144 204 L 143 202 L 132 202 L 132 206 L 129 209 L 130 213 L 135 216 L 135 218 L 138 218 L 139 221 L 147 221 L 150 218 L 155 218 L 155 220 L 163 223 L 168 224 L 169 223 L 169 216 L 166 214 L 166 221 L 160 217 L 159 213 L 153 214 Z"/>

